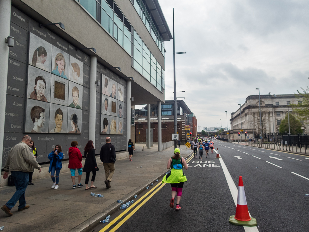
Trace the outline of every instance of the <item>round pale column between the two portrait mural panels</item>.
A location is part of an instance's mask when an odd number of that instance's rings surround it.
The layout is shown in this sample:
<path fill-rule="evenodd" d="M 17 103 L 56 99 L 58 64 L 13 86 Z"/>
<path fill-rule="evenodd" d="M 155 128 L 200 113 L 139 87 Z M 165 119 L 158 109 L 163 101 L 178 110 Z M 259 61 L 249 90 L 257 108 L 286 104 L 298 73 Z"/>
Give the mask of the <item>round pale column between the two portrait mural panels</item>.
<path fill-rule="evenodd" d="M 95 146 L 96 56 L 90 57 L 89 140 Z M 104 84 L 101 82 L 101 84 Z"/>

